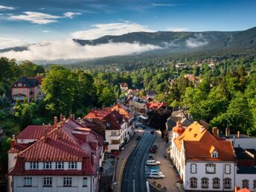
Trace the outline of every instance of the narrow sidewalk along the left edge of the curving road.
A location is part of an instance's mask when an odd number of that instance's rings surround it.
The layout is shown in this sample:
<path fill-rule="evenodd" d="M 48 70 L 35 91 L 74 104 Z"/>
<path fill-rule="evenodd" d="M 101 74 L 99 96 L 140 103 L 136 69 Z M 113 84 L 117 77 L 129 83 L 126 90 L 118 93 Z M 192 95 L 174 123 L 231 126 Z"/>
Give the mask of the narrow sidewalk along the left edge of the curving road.
<path fill-rule="evenodd" d="M 124 171 L 124 167 L 126 164 L 126 161 L 129 157 L 129 155 L 132 153 L 132 150 L 136 147 L 138 144 L 138 141 L 136 138 L 138 136 L 143 135 L 143 129 L 135 129 L 135 135 L 131 138 L 131 140 L 124 146 L 124 150 L 122 150 L 119 154 L 117 166 L 115 169 L 115 178 L 113 179 L 113 183 L 117 183 L 118 185 L 114 185 L 113 192 L 120 192 L 121 190 L 121 179 L 122 179 L 122 174 Z"/>

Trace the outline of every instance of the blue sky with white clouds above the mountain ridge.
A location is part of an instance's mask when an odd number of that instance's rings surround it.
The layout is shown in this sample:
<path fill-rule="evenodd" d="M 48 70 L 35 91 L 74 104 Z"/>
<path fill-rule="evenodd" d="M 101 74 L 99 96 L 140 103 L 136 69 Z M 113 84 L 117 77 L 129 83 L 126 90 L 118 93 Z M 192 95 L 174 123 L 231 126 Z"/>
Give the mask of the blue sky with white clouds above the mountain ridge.
<path fill-rule="evenodd" d="M 243 31 L 256 26 L 255 10 L 255 0 L 0 0 L 0 49 L 135 31 Z"/>

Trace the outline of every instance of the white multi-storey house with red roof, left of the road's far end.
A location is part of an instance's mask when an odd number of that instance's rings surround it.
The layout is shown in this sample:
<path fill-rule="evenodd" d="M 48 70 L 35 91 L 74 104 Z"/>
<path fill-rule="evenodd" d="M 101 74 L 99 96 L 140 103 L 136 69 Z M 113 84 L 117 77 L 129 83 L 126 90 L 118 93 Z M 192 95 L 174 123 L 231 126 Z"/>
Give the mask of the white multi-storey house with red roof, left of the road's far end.
<path fill-rule="evenodd" d="M 101 129 L 104 130 L 103 138 L 106 141 L 106 152 L 118 155 L 120 147 L 127 137 L 124 115 L 116 110 L 92 109 L 84 119 L 100 125 Z"/>

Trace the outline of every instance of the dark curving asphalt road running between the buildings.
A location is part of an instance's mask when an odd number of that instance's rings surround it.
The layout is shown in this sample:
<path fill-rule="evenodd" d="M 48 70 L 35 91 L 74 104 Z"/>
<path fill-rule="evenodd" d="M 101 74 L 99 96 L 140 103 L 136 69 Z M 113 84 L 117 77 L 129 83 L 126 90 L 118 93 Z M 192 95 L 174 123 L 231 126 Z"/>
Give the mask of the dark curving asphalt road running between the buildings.
<path fill-rule="evenodd" d="M 121 192 L 147 192 L 145 165 L 147 156 L 156 138 L 150 129 L 144 129 L 144 135 L 127 159 L 122 176 Z M 149 191 L 148 191 L 149 192 Z"/>

